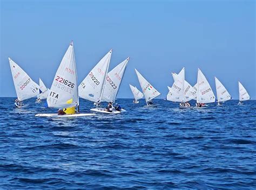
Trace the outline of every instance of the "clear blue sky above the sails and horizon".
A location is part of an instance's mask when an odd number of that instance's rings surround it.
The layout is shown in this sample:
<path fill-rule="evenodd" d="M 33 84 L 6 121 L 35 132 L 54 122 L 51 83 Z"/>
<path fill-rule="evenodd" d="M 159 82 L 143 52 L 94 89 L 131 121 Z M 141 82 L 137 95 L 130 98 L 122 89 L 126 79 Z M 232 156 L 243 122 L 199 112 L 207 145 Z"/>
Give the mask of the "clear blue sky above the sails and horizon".
<path fill-rule="evenodd" d="M 0 96 L 16 96 L 8 57 L 50 88 L 73 40 L 78 83 L 112 48 L 110 69 L 130 57 L 118 97 L 139 82 L 134 68 L 165 98 L 185 67 L 214 76 L 233 98 L 238 80 L 256 98 L 255 1 L 1 1 Z"/>

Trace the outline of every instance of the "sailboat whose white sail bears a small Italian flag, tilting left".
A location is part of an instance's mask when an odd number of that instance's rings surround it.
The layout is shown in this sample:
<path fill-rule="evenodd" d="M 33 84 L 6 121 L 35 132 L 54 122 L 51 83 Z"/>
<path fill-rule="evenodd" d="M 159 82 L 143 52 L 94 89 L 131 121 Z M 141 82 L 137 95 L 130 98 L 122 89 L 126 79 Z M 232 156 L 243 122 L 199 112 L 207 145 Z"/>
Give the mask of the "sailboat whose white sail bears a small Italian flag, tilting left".
<path fill-rule="evenodd" d="M 145 107 L 157 107 L 157 104 L 153 104 L 153 98 L 160 95 L 156 88 L 154 88 L 136 69 L 135 72 L 138 76 L 140 87 L 142 87 L 142 92 L 145 96 L 146 106 Z"/>

